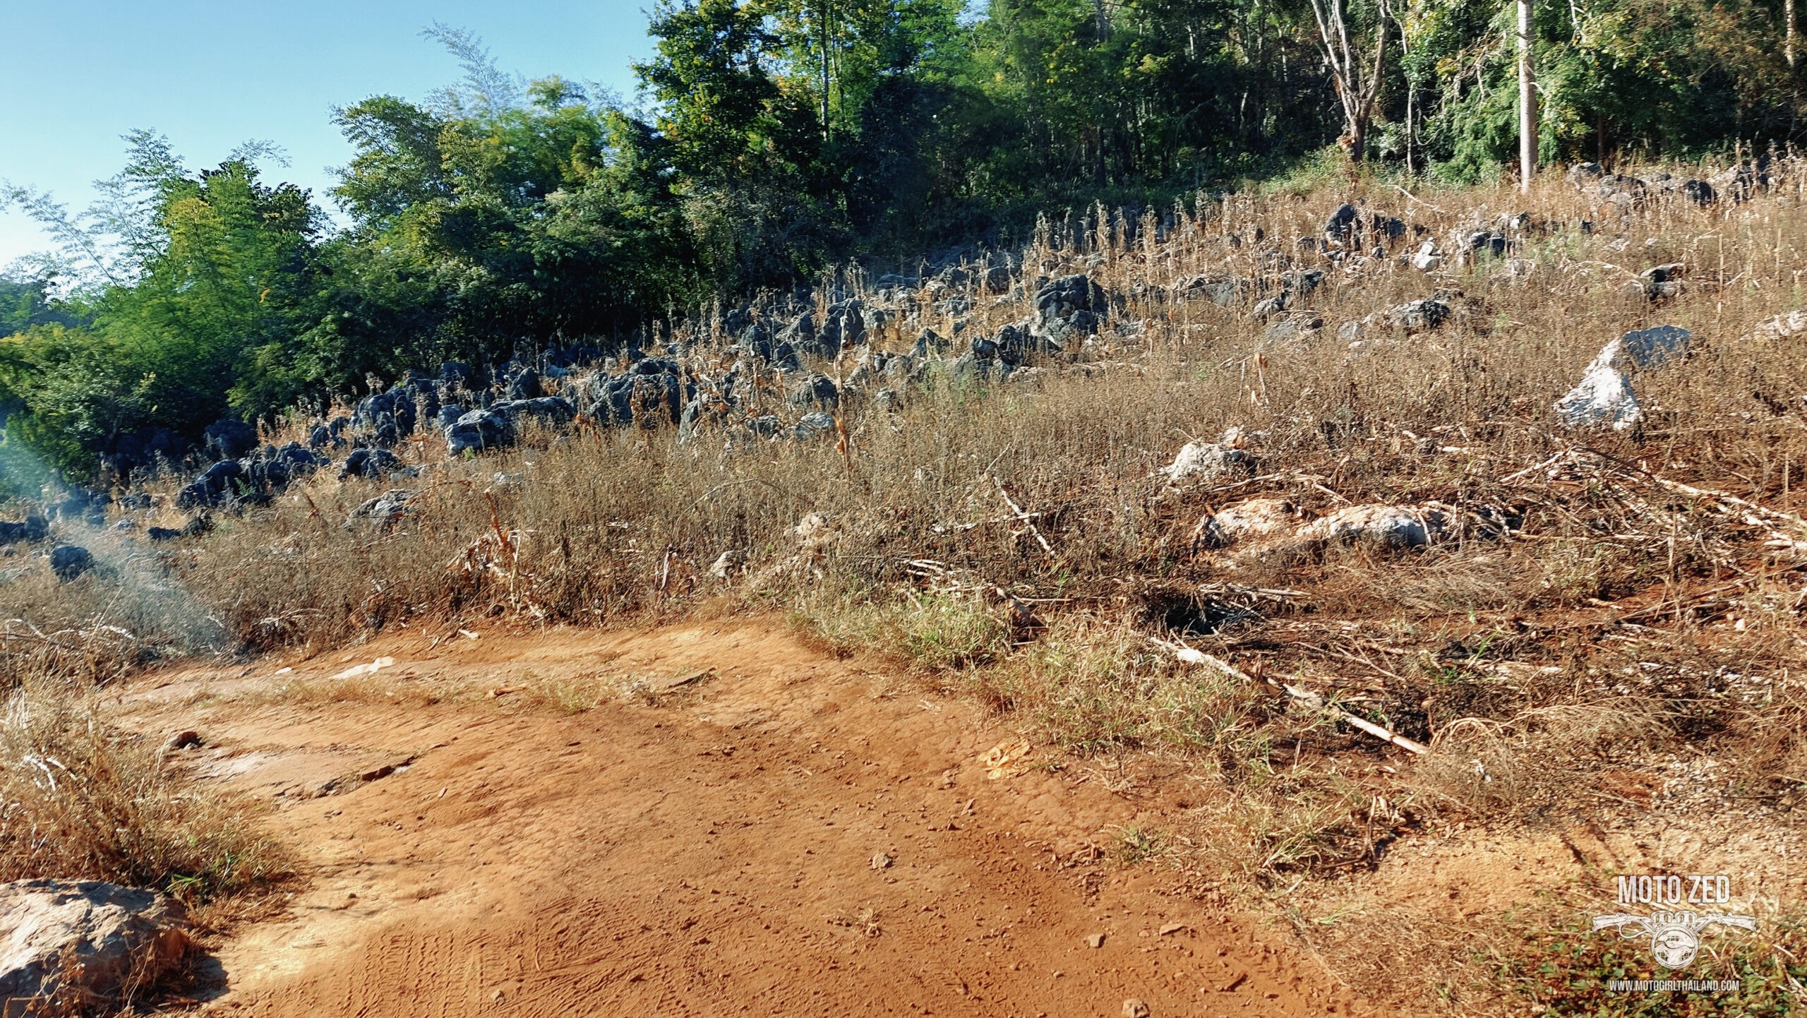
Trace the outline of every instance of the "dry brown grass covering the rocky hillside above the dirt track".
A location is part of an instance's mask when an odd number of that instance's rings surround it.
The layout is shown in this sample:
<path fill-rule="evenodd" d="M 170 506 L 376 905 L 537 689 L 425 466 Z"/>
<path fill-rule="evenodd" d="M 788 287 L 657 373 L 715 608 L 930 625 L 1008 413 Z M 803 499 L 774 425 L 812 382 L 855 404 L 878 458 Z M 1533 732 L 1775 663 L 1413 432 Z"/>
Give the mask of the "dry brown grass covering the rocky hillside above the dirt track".
<path fill-rule="evenodd" d="M 1198 830 L 1126 835 L 1126 853 L 1252 888 L 1372 866 L 1402 830 L 1588 815 L 1610 803 L 1585 792 L 1601 774 L 1664 752 L 1720 759 L 1738 794 L 1793 815 L 1807 792 L 1807 559 L 1791 544 L 1807 541 L 1793 519 L 1807 336 L 1758 325 L 1807 300 L 1807 174 L 1776 170 L 1747 203 L 1653 199 L 1623 215 L 1558 179 L 1529 197 L 1417 199 L 1348 181 L 1200 199 L 1166 240 L 1153 219 L 1131 242 L 1120 224 L 1048 226 L 1021 251 L 1026 275 L 1086 271 L 1122 298 L 1113 322 L 1138 325 L 1108 327 L 1084 363 L 983 392 L 931 382 L 902 410 L 849 407 L 846 454 L 719 432 L 681 445 L 669 429 L 538 436 L 459 463 L 410 445 L 403 456 L 428 472 L 394 526 L 347 524 L 389 485 L 322 477 L 173 551 L 101 555 L 107 568 L 74 584 L 22 562 L 0 586 L 0 615 L 20 620 L 0 651 L 20 671 L 107 682 L 154 656 L 320 651 L 479 617 L 605 626 L 725 602 L 782 609 L 835 646 L 902 655 L 1077 754 L 1184 761 L 1222 808 Z M 1337 268 L 1294 239 L 1317 235 L 1341 201 L 1400 215 L 1446 250 L 1453 230 L 1500 213 L 1529 212 L 1532 228 L 1514 239 L 1523 264 Z M 1397 250 L 1418 240 L 1408 231 Z M 1632 286 L 1670 262 L 1686 264 L 1679 295 Z M 1270 336 L 1254 295 L 1220 307 L 1178 287 L 1292 268 L 1328 271 L 1303 302 L 1325 325 L 1305 338 Z M 1433 293 L 1456 311 L 1438 331 L 1370 333 L 1359 349 L 1335 338 Z M 918 327 L 954 335 L 936 309 L 949 297 L 911 295 L 914 311 L 894 309 L 873 345 L 907 349 Z M 1032 315 L 1023 293 L 969 297 L 961 340 Z M 1655 324 L 1693 329 L 1695 349 L 1637 380 L 1643 427 L 1559 427 L 1550 403 L 1599 347 Z M 719 335 L 690 324 L 679 340 L 708 349 Z M 779 409 L 763 392 L 761 410 Z M 1252 476 L 1187 490 L 1151 476 L 1232 425 L 1252 436 Z M 1409 555 L 1263 557 L 1193 539 L 1202 517 L 1261 495 L 1306 517 L 1437 501 L 1485 524 Z M 725 551 L 744 568 L 710 577 Z M 1435 752 L 1409 767 L 1270 691 L 1184 669 L 1149 636 L 1285 676 Z M 613 694 L 546 689 L 533 703 Z"/>

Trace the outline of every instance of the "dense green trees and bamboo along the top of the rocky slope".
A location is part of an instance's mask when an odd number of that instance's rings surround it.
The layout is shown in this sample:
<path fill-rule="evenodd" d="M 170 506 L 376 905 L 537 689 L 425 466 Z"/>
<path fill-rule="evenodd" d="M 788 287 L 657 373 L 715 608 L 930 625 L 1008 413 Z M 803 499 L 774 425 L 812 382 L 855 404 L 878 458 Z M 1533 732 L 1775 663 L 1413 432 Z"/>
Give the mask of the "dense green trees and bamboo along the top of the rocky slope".
<path fill-rule="evenodd" d="M 1375 172 L 1494 174 L 1516 148 L 1509 7 L 661 0 L 638 107 L 520 83 L 435 25 L 459 85 L 336 114 L 343 230 L 264 179 L 267 146 L 195 172 L 150 132 L 83 217 L 0 193 L 60 242 L 0 278 L 5 443 L 80 472 L 168 445 L 146 430 L 181 443 L 437 360 L 627 336 L 849 257 L 1160 203 L 1337 141 Z M 1793 143 L 1784 9 L 1540 4 L 1545 161 Z"/>

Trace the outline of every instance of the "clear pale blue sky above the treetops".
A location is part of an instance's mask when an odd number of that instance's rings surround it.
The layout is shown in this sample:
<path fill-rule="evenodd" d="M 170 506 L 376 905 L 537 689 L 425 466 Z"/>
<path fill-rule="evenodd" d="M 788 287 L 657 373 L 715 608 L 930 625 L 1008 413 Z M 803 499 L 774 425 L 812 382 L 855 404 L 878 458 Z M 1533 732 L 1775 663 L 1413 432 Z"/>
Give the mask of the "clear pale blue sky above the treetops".
<path fill-rule="evenodd" d="M 170 137 L 193 168 L 239 143 L 280 145 L 269 175 L 325 190 L 351 148 L 332 107 L 365 96 L 425 98 L 457 61 L 421 29 L 443 22 L 482 38 L 526 78 L 562 74 L 632 99 L 629 67 L 652 52 L 651 0 L 0 0 L 0 179 L 70 208 L 125 159 L 119 136 Z M 49 248 L 36 224 L 0 212 L 0 268 Z"/>

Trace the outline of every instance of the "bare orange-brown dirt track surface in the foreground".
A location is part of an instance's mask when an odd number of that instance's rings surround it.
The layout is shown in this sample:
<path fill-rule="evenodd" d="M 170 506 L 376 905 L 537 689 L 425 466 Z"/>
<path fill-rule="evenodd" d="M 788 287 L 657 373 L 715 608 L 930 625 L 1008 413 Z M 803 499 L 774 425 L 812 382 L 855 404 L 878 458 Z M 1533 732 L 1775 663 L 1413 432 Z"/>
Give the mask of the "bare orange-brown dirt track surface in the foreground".
<path fill-rule="evenodd" d="M 656 705 L 580 714 L 511 711 L 508 694 L 262 696 L 378 655 L 403 689 L 714 671 Z M 128 698 L 148 732 L 202 734 L 186 750 L 201 772 L 273 797 L 302 859 L 287 915 L 217 951 L 208 1013 L 1368 1011 L 1278 931 L 1175 893 L 1171 872 L 1100 859 L 1156 803 L 1082 767 L 992 779 L 979 756 L 1006 729 L 779 622 L 399 638 L 275 667 L 163 676 Z"/>

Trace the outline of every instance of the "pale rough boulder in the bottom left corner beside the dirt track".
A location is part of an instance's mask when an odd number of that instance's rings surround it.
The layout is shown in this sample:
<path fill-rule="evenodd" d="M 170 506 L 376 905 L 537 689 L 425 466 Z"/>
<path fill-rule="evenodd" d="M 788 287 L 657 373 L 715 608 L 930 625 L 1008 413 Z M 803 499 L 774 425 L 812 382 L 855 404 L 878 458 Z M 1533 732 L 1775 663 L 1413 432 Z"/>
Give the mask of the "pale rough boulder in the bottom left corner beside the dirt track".
<path fill-rule="evenodd" d="M 0 884 L 0 1016 L 117 1007 L 190 949 L 183 906 L 101 881 Z"/>

